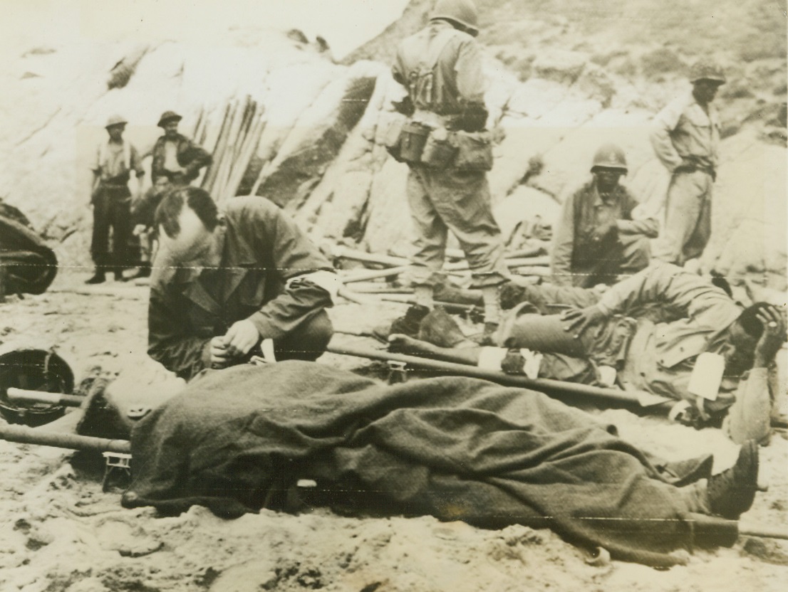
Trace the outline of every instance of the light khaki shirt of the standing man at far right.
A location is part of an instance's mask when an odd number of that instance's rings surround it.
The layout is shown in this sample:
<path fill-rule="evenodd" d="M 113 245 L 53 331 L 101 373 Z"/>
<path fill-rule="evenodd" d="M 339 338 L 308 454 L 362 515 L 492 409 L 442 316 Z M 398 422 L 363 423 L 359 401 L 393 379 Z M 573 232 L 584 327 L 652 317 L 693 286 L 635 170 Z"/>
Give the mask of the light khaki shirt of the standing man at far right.
<path fill-rule="evenodd" d="M 689 96 L 676 99 L 654 119 L 651 143 L 656 156 L 673 172 L 686 161 L 706 168 L 719 162 L 719 116 L 714 105 L 708 113 Z"/>

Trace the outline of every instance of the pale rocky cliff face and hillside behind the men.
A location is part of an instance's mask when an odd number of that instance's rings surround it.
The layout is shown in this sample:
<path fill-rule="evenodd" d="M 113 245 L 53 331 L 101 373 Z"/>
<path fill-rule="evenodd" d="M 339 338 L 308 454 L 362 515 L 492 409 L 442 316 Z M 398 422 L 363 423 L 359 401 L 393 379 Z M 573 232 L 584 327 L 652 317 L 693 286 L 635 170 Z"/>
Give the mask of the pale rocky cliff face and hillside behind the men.
<path fill-rule="evenodd" d="M 649 145 L 649 121 L 688 89 L 687 65 L 713 54 L 730 83 L 718 98 L 726 138 L 704 265 L 734 279 L 757 272 L 784 290 L 785 20 L 768 2 L 668 4 L 678 13 L 640 0 L 615 12 L 572 0 L 479 2 L 487 102 L 503 132 L 489 175 L 496 212 L 507 228 L 535 216 L 552 223 L 604 142 L 623 146 L 626 183 L 659 211 L 667 173 Z M 199 113 L 218 126 L 225 102 L 249 94 L 265 106 L 267 124 L 240 191 L 256 180 L 258 194 L 317 239 L 407 253 L 407 167 L 382 146 L 394 84 L 388 61 L 428 9 L 414 0 L 342 64 L 303 35 L 248 28 L 221 46 L 28 47 L 3 72 L 0 194 L 55 243 L 61 261 L 87 264 L 88 167 L 106 117 L 123 113 L 127 137 L 145 152 L 164 109 L 183 113 L 188 133 Z"/>

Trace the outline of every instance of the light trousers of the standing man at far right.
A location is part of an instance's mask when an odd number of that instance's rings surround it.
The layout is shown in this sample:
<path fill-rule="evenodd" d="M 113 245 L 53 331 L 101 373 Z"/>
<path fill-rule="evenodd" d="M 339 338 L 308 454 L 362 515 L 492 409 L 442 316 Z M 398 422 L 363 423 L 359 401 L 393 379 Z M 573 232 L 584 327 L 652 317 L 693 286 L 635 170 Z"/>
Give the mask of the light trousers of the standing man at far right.
<path fill-rule="evenodd" d="M 656 240 L 654 258 L 683 265 L 703 253 L 712 231 L 712 176 L 678 172 L 667 188 L 665 224 Z"/>

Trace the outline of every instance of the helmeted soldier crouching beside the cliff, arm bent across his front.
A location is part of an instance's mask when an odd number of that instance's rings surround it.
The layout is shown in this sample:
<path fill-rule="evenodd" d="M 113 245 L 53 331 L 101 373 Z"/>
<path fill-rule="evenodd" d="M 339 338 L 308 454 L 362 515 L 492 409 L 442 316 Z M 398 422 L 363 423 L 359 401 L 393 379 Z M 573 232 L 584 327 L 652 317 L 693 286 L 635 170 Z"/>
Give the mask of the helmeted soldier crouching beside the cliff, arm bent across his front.
<path fill-rule="evenodd" d="M 619 184 L 626 175 L 624 151 L 614 144 L 597 150 L 593 178 L 563 202 L 552 246 L 553 283 L 593 287 L 615 283 L 619 274 L 649 265 L 654 218 L 634 220 L 637 200 Z"/>

